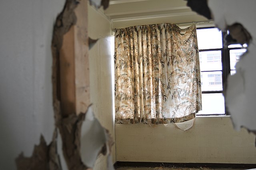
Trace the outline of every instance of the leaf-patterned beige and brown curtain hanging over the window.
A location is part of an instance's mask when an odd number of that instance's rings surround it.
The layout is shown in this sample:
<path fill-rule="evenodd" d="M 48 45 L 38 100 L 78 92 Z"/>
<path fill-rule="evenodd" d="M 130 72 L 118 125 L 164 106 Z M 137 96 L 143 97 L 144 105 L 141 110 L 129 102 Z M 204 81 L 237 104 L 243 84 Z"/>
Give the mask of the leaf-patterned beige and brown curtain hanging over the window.
<path fill-rule="evenodd" d="M 195 25 L 117 29 L 114 62 L 116 123 L 178 123 L 201 110 Z"/>

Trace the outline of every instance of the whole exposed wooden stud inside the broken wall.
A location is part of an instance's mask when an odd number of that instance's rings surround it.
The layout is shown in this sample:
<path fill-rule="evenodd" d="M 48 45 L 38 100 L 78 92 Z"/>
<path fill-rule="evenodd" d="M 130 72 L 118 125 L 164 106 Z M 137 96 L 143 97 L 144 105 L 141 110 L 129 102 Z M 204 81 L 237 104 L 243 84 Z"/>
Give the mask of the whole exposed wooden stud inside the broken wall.
<path fill-rule="evenodd" d="M 63 115 L 86 112 L 90 105 L 87 1 L 74 10 L 76 24 L 63 37 L 60 50 L 60 100 Z"/>

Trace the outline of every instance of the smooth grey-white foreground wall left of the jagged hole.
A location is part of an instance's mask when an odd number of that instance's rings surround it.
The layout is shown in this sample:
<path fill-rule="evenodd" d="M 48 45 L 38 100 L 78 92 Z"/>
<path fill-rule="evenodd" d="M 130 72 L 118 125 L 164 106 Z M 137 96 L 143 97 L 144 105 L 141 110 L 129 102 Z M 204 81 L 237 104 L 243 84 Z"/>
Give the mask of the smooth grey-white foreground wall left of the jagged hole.
<path fill-rule="evenodd" d="M 0 2 L 0 170 L 52 138 L 51 40 L 64 0 Z"/>

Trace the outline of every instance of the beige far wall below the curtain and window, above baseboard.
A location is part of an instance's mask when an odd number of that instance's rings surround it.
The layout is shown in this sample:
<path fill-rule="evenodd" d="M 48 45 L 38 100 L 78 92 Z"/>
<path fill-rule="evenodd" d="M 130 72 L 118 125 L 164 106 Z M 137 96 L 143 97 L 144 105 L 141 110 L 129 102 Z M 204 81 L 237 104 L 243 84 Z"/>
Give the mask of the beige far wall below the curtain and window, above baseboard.
<path fill-rule="evenodd" d="M 116 124 L 116 161 L 255 164 L 255 135 L 235 131 L 229 116 L 198 116 L 187 131 Z"/>

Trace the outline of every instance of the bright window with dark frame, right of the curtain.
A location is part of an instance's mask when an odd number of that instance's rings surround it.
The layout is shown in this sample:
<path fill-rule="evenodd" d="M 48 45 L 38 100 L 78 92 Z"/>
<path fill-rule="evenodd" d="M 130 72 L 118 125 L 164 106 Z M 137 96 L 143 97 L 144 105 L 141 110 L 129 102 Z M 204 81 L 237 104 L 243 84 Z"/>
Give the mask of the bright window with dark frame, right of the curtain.
<path fill-rule="evenodd" d="M 198 115 L 226 114 L 223 85 L 228 74 L 236 73 L 235 65 L 246 52 L 239 44 L 224 48 L 224 34 L 218 28 L 197 29 L 202 85 L 202 110 Z"/>

